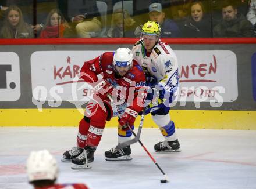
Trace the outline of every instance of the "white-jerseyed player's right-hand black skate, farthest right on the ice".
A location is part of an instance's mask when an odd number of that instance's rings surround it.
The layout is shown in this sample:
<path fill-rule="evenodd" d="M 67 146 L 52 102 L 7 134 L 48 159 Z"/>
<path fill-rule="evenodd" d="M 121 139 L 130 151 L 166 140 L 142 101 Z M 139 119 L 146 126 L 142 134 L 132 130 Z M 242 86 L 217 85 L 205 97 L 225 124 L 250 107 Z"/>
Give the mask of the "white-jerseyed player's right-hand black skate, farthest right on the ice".
<path fill-rule="evenodd" d="M 154 149 L 156 152 L 179 152 L 180 143 L 177 140 L 175 141 L 162 141 L 160 143 L 155 144 Z"/>

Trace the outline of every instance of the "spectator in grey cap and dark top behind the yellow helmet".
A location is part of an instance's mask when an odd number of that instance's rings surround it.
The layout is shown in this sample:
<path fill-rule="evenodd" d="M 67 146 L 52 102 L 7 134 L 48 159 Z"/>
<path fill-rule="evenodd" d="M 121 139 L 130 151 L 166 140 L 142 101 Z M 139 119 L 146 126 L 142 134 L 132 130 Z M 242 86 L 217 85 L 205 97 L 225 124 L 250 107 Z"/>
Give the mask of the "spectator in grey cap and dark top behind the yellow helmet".
<path fill-rule="evenodd" d="M 180 36 L 180 29 L 177 24 L 165 18 L 165 13 L 162 12 L 162 5 L 160 3 L 152 3 L 149 6 L 149 17 L 150 21 L 156 21 L 160 27 L 162 28 L 161 31 L 161 38 L 173 38 Z M 134 34 L 138 37 L 140 36 L 141 27 L 137 27 Z"/>

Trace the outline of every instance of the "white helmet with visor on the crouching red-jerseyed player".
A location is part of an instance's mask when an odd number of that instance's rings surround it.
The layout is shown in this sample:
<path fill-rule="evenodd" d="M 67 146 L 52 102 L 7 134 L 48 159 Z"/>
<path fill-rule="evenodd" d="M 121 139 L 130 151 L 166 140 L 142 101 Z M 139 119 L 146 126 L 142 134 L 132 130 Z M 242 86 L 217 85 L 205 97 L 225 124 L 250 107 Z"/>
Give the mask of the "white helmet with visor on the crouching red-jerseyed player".
<path fill-rule="evenodd" d="M 118 48 L 113 57 L 113 68 L 116 71 L 118 67 L 129 67 L 133 66 L 133 53 L 128 48 Z"/>

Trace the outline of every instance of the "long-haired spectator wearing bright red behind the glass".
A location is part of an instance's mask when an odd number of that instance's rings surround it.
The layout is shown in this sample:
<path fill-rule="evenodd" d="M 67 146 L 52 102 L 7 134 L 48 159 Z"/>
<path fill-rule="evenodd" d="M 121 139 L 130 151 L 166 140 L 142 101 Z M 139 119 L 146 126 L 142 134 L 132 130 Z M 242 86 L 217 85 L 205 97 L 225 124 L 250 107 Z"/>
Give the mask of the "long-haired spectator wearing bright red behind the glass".
<path fill-rule="evenodd" d="M 52 9 L 47 16 L 47 22 L 40 33 L 40 38 L 72 37 L 72 30 L 57 9 Z"/>

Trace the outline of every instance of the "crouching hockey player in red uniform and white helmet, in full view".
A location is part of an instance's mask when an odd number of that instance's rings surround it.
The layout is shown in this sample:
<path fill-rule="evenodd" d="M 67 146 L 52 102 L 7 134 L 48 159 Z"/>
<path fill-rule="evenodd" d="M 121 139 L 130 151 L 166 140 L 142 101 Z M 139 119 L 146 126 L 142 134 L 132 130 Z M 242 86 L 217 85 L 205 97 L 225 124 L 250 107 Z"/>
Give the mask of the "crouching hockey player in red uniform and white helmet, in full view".
<path fill-rule="evenodd" d="M 103 74 L 98 79 L 98 74 Z M 128 48 L 119 48 L 115 53 L 106 52 L 101 56 L 86 61 L 81 68 L 80 77 L 94 89 L 94 95 L 87 104 L 84 118 L 79 123 L 77 147 L 66 151 L 62 161 L 72 161 L 72 169 L 90 168 L 88 163 L 94 161 L 96 150 L 106 124 L 115 112 L 108 95 L 118 100 L 120 132 L 131 135 L 127 125 L 133 123 L 143 108 L 145 100 L 145 75 L 142 68 L 133 60 Z M 120 103 L 121 102 L 121 103 Z M 123 103 L 122 103 L 123 102 Z M 113 106 L 113 107 L 112 107 Z M 127 149 L 129 154 L 129 149 Z"/>

